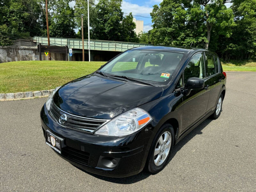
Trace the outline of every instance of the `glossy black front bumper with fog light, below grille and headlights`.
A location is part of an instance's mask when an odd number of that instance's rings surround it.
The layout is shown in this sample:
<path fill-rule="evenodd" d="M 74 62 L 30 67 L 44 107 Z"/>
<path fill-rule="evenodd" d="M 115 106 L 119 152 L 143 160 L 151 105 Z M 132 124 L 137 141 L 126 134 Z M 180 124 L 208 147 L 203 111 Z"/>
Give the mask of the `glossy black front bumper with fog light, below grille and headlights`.
<path fill-rule="evenodd" d="M 71 164 L 108 177 L 127 177 L 143 170 L 152 135 L 147 127 L 127 137 L 98 136 L 61 127 L 45 105 L 40 116 L 44 136 L 48 130 L 64 139 L 59 155 Z"/>

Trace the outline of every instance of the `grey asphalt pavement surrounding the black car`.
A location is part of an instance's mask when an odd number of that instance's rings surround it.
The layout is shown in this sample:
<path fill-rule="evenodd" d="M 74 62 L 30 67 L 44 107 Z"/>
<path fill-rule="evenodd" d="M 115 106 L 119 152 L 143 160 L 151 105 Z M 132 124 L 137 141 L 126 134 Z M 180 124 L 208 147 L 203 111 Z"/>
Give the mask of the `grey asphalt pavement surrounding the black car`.
<path fill-rule="evenodd" d="M 0 191 L 256 191 L 256 73 L 228 72 L 223 111 L 172 151 L 156 175 L 83 172 L 44 142 L 46 98 L 0 101 Z"/>

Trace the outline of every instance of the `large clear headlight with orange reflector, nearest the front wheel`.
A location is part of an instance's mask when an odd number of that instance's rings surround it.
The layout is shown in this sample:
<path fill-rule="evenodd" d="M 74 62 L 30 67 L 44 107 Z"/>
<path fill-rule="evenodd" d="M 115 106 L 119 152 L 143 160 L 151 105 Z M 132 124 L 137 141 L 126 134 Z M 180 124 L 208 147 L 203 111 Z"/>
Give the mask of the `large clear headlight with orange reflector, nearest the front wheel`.
<path fill-rule="evenodd" d="M 107 136 L 130 135 L 147 125 L 152 117 L 140 108 L 134 108 L 124 114 L 112 119 L 100 127 L 95 134 Z"/>

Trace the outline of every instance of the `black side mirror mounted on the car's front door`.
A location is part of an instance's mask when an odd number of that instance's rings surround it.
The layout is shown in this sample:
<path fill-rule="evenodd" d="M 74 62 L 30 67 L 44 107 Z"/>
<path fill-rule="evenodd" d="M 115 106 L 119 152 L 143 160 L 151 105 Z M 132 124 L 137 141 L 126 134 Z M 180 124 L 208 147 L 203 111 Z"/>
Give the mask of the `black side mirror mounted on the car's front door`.
<path fill-rule="evenodd" d="M 185 87 L 182 91 L 182 94 L 188 96 L 191 89 L 203 89 L 204 88 L 204 79 L 198 77 L 190 77 L 185 84 Z"/>

